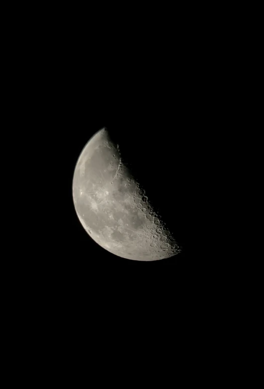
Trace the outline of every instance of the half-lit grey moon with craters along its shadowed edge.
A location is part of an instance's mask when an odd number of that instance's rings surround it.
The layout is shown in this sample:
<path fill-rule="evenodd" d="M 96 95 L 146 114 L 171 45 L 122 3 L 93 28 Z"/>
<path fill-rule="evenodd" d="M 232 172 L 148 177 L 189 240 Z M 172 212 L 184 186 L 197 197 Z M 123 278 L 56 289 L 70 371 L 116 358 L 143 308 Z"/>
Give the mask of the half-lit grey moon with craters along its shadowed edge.
<path fill-rule="evenodd" d="M 96 132 L 83 148 L 72 190 L 83 228 L 110 253 L 131 260 L 156 261 L 181 251 L 106 128 Z"/>

